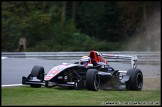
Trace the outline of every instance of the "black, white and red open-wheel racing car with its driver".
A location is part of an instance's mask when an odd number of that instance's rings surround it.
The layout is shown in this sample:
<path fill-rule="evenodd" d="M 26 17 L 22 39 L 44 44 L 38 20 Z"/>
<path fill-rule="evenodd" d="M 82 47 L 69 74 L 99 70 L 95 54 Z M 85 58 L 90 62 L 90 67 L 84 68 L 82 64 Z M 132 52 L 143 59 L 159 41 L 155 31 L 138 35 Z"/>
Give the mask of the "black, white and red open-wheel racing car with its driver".
<path fill-rule="evenodd" d="M 129 59 L 132 68 L 127 71 L 115 70 L 106 58 Z M 34 88 L 62 86 L 92 91 L 142 90 L 143 74 L 137 69 L 136 55 L 100 54 L 92 50 L 78 62 L 54 66 L 47 74 L 43 66 L 35 65 L 27 77 L 22 77 L 22 84 Z"/>

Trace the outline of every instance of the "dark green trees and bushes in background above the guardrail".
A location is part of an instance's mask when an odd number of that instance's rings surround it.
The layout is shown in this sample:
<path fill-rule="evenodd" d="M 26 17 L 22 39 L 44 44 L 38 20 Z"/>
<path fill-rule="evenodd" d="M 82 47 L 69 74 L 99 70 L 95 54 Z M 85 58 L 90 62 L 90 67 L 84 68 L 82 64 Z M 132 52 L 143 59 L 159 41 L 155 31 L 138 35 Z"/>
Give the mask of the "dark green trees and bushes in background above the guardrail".
<path fill-rule="evenodd" d="M 152 20 L 160 17 L 160 7 L 160 1 L 2 2 L 1 50 L 15 51 L 21 37 L 27 39 L 26 51 L 148 50 L 135 39 L 145 37 L 148 43 L 157 38 L 149 50 L 158 50 L 160 31 L 148 36 L 148 28 L 160 28 L 160 18 L 156 26 Z M 135 45 L 128 47 L 132 38 Z"/>

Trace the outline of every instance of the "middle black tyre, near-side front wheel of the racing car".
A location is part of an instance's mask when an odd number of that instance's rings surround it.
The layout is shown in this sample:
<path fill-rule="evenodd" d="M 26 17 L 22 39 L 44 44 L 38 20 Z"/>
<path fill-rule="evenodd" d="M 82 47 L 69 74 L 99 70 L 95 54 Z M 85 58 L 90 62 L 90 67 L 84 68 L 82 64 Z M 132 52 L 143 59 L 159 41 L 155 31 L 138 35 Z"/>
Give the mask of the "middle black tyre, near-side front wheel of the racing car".
<path fill-rule="evenodd" d="M 98 91 L 100 77 L 96 69 L 89 69 L 86 74 L 86 87 L 88 90 Z"/>

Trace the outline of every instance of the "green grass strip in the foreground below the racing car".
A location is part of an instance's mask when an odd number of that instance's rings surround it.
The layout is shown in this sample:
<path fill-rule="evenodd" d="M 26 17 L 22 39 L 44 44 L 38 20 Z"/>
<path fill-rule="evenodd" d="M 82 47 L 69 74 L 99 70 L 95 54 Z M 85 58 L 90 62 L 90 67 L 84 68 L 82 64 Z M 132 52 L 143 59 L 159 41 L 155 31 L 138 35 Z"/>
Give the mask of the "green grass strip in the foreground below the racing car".
<path fill-rule="evenodd" d="M 160 90 L 142 91 L 89 91 L 69 90 L 62 87 L 31 88 L 3 87 L 2 106 L 51 105 L 51 106 L 104 106 L 107 102 L 158 102 Z"/>

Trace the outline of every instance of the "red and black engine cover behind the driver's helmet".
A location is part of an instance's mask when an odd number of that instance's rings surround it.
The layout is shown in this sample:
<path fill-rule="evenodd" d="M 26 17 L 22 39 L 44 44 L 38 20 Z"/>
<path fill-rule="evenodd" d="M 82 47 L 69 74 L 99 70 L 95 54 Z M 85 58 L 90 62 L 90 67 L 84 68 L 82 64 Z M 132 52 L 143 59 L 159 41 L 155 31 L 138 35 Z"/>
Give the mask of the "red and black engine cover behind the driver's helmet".
<path fill-rule="evenodd" d="M 97 51 L 90 51 L 89 55 L 88 55 L 91 59 L 95 60 L 97 63 L 98 62 L 104 62 L 105 64 L 108 64 L 108 62 L 102 57 L 102 55 L 100 53 L 98 53 Z"/>

